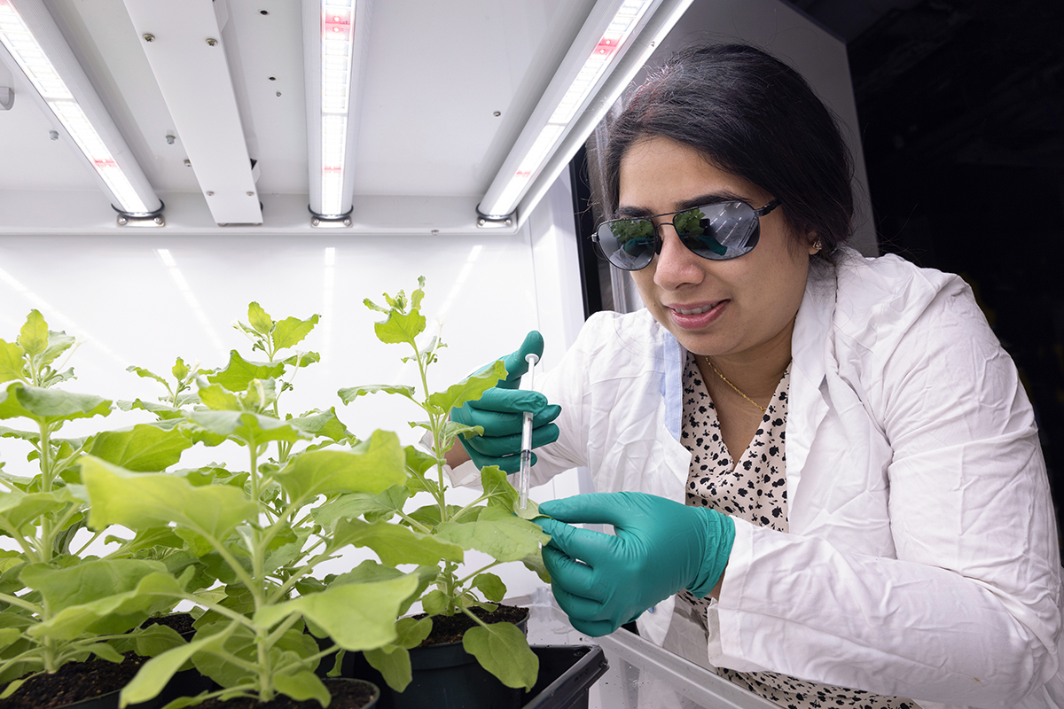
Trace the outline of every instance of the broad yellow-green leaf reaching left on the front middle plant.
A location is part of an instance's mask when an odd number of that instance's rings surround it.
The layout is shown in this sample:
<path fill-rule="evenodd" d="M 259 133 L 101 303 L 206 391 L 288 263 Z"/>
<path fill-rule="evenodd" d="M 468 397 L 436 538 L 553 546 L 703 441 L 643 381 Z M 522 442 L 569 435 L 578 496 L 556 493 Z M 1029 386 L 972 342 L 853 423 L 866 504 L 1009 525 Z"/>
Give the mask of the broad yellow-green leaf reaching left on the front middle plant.
<path fill-rule="evenodd" d="M 220 541 L 259 513 L 259 506 L 230 485 L 196 487 L 172 475 L 131 473 L 93 456 L 82 459 L 81 476 L 93 503 L 93 529 L 121 524 L 140 530 L 172 522 Z"/>

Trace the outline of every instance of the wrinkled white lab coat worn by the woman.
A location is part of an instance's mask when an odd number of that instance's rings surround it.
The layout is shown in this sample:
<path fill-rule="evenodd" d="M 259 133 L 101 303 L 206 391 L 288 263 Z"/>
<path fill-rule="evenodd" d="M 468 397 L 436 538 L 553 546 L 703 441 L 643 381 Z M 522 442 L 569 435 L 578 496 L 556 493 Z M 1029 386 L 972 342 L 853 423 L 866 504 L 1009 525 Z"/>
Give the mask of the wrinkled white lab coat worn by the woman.
<path fill-rule="evenodd" d="M 848 251 L 811 273 L 792 353 L 791 533 L 736 521 L 709 661 L 924 707 L 1064 706 L 1034 417 L 967 285 Z M 586 466 L 599 491 L 682 502 L 683 356 L 646 310 L 593 316 L 539 377 L 561 437 L 533 484 Z M 642 632 L 661 644 L 674 606 Z"/>

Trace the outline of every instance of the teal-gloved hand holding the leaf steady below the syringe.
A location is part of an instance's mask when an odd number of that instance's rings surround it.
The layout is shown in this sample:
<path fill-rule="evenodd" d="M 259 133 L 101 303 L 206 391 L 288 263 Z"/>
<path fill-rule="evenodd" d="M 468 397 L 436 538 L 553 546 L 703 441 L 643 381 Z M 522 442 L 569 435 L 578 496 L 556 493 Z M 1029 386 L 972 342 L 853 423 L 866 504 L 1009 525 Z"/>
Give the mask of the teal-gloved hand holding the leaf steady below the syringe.
<path fill-rule="evenodd" d="M 593 492 L 550 500 L 534 520 L 551 540 L 543 560 L 572 627 L 599 637 L 682 589 L 701 598 L 717 585 L 735 523 L 705 507 L 644 492 Z M 612 524 L 616 536 L 571 523 Z"/>

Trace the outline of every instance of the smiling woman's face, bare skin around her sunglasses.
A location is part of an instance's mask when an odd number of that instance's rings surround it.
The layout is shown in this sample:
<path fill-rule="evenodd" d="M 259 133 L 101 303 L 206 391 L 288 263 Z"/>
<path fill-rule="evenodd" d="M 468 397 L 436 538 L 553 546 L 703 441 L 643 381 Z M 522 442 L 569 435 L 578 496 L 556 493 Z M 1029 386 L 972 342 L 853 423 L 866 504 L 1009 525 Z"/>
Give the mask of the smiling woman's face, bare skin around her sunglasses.
<path fill-rule="evenodd" d="M 618 216 L 676 212 L 697 200 L 739 199 L 754 208 L 774 195 L 724 172 L 695 149 L 669 138 L 634 142 L 620 163 Z M 761 218 L 761 238 L 750 253 L 712 261 L 680 242 L 662 217 L 662 250 L 650 265 L 632 271 L 643 302 L 680 343 L 696 354 L 748 359 L 786 350 L 789 357 L 795 315 L 805 291 L 811 244 L 799 247 L 788 234 L 782 209 Z"/>

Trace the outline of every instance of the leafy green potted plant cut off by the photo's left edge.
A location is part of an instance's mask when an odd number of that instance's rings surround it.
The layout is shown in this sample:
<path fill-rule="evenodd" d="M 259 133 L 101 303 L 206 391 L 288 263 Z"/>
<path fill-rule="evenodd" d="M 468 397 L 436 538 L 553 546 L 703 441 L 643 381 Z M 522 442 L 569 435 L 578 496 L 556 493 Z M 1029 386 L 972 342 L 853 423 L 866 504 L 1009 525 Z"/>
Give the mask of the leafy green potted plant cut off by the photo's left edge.
<path fill-rule="evenodd" d="M 192 442 L 152 426 L 61 438 L 64 424 L 112 411 L 101 396 L 59 388 L 73 370 L 53 365 L 73 344 L 37 310 L 14 341 L 0 340 L 0 419 L 21 426 L 0 426 L 0 437 L 24 442 L 36 462 L 29 476 L 0 471 L 0 534 L 16 547 L 0 552 L 0 698 L 90 656 L 122 663 L 123 653 L 147 656 L 181 642 L 165 626 L 130 634 L 176 603 L 143 592 L 159 585 L 180 590 L 164 563 L 88 556 L 96 537 L 79 550 L 70 545 L 85 526 L 79 463 L 86 452 L 131 470 L 164 469 Z"/>

